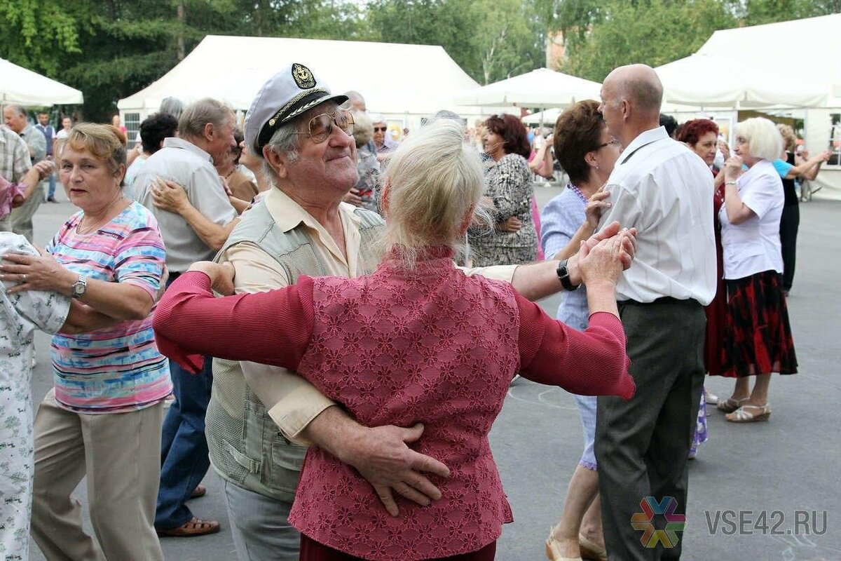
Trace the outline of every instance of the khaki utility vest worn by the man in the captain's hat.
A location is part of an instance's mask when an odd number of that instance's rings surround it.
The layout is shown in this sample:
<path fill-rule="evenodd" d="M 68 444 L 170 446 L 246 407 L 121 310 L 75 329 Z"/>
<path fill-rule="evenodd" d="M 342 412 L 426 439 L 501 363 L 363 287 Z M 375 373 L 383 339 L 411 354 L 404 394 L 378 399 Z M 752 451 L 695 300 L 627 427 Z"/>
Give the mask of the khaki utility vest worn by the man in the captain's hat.
<path fill-rule="evenodd" d="M 359 270 L 362 274 L 373 273 L 379 262 L 376 242 L 383 236 L 385 225 L 376 213 L 364 209 L 354 212 L 361 219 Z M 244 241 L 260 246 L 274 257 L 292 283 L 301 274 L 328 274 L 304 226 L 281 231 L 263 203 L 243 216 L 217 259 L 230 246 Z M 246 385 L 240 363 L 214 358 L 213 375 L 205 419 L 210 462 L 231 483 L 291 503 L 306 448 L 283 437 L 266 406 Z"/>

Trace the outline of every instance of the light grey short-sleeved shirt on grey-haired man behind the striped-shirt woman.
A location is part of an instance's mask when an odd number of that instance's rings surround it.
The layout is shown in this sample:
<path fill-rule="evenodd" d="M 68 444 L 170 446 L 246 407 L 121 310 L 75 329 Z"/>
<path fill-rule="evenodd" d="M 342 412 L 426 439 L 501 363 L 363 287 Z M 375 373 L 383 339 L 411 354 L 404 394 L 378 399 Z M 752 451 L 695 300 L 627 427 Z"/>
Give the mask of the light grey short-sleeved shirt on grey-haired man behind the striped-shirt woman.
<path fill-rule="evenodd" d="M 152 203 L 151 187 L 158 177 L 181 185 L 190 204 L 215 224 L 228 224 L 235 219 L 236 211 L 213 167 L 213 159 L 198 146 L 180 138 L 167 138 L 163 148 L 149 156 L 132 185 L 135 199 L 155 214 L 167 246 L 167 267 L 173 273 L 183 273 L 193 262 L 213 259 L 216 251 L 198 237 L 180 214 L 158 209 Z"/>

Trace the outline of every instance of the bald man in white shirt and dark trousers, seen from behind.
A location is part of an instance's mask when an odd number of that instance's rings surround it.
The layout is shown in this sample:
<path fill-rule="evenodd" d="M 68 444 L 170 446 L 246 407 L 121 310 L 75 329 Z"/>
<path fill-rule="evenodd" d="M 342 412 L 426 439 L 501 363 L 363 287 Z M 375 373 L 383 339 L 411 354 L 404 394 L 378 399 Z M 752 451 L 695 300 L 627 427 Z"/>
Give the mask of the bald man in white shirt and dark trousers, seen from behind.
<path fill-rule="evenodd" d="M 637 394 L 600 397 L 596 413 L 605 542 L 609 558 L 621 561 L 680 558 L 680 534 L 677 543 L 645 547 L 631 517 L 647 497 L 664 508 L 664 497 L 674 497 L 674 512 L 686 511 L 686 462 L 704 379 L 703 306 L 716 292 L 712 176 L 659 125 L 662 97 L 652 68 L 621 66 L 605 79 L 599 107 L 625 147 L 607 181 L 611 207 L 600 227 L 619 220 L 637 228 L 636 261 L 616 287 Z"/>

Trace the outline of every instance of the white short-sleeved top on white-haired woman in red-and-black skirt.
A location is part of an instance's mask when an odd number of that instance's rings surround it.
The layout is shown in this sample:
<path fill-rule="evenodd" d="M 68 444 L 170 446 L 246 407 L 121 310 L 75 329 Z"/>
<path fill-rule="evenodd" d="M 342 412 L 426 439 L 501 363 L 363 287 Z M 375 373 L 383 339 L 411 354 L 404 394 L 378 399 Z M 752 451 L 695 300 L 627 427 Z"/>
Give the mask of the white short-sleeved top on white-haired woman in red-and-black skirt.
<path fill-rule="evenodd" d="M 722 223 L 724 278 L 749 277 L 763 271 L 783 272 L 780 215 L 785 194 L 780 174 L 770 161 L 758 161 L 736 180 L 739 197 L 754 216 L 730 224 L 726 205 L 718 211 Z"/>

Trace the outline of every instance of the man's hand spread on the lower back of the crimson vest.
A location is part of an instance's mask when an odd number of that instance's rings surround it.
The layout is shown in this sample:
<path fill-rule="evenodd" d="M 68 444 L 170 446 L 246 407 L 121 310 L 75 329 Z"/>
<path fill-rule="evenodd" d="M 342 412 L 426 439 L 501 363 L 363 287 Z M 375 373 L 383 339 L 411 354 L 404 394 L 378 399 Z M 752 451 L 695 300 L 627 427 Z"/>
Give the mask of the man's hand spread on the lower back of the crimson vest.
<path fill-rule="evenodd" d="M 392 490 L 426 506 L 440 499 L 441 491 L 423 473 L 450 475 L 443 463 L 406 446 L 417 441 L 423 430 L 421 423 L 411 428 L 389 425 L 365 429 L 366 436 L 352 443 L 355 453 L 342 458 L 368 480 L 391 516 L 399 514 Z"/>

